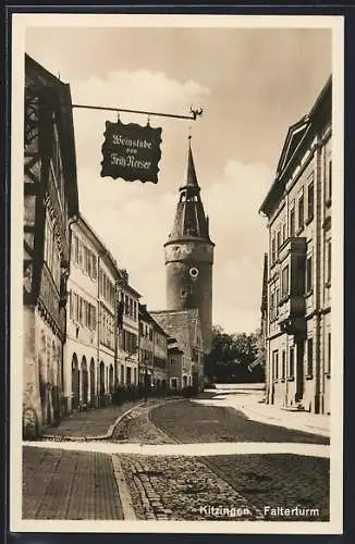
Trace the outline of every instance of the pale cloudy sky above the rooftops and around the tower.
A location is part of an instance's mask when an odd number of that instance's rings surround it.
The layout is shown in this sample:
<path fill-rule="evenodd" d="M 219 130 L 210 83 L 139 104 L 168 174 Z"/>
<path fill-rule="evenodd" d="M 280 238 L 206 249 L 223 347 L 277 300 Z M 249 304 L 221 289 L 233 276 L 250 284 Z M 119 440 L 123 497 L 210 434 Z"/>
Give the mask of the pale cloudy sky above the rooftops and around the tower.
<path fill-rule="evenodd" d="M 258 213 L 287 127 L 331 73 L 327 28 L 27 27 L 26 52 L 71 85 L 73 103 L 188 114 L 162 128 L 158 184 L 100 176 L 105 122 L 74 109 L 79 208 L 150 310 L 166 308 L 163 244 L 187 168 L 188 134 L 216 244 L 213 323 L 260 324 L 267 223 Z M 146 115 L 121 113 L 145 125 Z"/>

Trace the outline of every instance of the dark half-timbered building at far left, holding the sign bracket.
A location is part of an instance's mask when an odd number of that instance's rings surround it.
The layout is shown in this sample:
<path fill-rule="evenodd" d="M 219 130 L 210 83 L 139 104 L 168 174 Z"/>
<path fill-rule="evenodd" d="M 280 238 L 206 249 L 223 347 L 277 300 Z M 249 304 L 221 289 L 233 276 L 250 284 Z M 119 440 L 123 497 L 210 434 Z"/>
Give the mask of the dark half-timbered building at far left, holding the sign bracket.
<path fill-rule="evenodd" d="M 69 225 L 78 210 L 70 86 L 25 55 L 23 435 L 65 412 Z"/>

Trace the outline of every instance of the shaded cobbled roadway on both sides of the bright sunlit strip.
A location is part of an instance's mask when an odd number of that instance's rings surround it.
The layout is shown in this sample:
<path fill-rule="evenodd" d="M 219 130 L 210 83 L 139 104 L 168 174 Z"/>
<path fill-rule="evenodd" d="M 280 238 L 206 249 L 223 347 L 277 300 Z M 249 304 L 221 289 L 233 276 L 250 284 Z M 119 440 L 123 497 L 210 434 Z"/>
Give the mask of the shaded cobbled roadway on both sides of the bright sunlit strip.
<path fill-rule="evenodd" d="M 230 441 L 328 442 L 316 435 L 255 423 L 232 409 L 205 407 L 186 400 L 136 408 L 123 419 L 114 437 L 131 443 L 173 443 L 152 421 L 163 422 L 161 426 L 166 431 L 191 443 L 198 438 L 199 442 L 223 441 L 225 433 Z M 282 521 L 287 517 L 264 514 L 265 506 L 282 505 L 316 508 L 319 515 L 315 521 L 329 519 L 328 459 L 296 455 L 200 458 L 135 455 L 122 456 L 121 462 L 137 516 L 142 519 Z M 228 514 L 213 516 L 209 510 L 212 506 L 222 507 Z M 297 520 L 309 518 L 299 516 Z"/>

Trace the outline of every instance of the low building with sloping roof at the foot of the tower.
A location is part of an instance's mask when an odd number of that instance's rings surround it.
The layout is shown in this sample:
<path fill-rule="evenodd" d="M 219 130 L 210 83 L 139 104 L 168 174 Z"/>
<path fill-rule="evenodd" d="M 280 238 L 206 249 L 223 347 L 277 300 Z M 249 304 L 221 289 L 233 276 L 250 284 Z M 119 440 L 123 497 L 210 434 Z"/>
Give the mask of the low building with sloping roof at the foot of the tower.
<path fill-rule="evenodd" d="M 171 388 L 204 387 L 205 346 L 199 312 L 166 310 L 150 312 L 168 338 L 167 380 Z"/>

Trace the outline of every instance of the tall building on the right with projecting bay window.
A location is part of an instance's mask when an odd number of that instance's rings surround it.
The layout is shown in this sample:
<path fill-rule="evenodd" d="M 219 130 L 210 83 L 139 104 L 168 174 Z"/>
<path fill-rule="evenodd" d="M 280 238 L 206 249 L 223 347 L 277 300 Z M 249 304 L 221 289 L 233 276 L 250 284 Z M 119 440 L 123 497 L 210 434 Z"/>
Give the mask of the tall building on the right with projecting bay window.
<path fill-rule="evenodd" d="M 268 219 L 267 401 L 330 413 L 331 78 L 289 128 Z"/>

